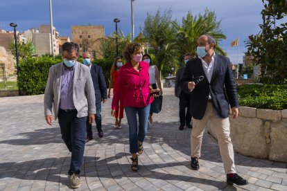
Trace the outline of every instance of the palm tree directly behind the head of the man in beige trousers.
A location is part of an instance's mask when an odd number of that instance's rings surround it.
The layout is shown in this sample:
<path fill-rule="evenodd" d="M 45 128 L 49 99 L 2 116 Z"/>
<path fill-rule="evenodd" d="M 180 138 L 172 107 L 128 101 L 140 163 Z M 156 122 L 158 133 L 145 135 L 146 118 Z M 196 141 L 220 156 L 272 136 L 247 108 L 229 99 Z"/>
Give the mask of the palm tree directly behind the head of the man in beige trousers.
<path fill-rule="evenodd" d="M 196 55 L 198 37 L 204 34 L 212 35 L 217 42 L 216 52 L 225 55 L 225 52 L 219 46 L 220 40 L 226 39 L 221 31 L 220 22 L 216 19 L 216 13 L 209 10 L 205 10 L 204 15 L 199 14 L 195 17 L 191 12 L 188 12 L 186 17 L 182 17 L 182 25 L 177 24 L 176 21 L 172 21 L 171 23 L 177 30 L 175 46 L 181 57 L 185 53 L 190 53 L 193 56 Z"/>

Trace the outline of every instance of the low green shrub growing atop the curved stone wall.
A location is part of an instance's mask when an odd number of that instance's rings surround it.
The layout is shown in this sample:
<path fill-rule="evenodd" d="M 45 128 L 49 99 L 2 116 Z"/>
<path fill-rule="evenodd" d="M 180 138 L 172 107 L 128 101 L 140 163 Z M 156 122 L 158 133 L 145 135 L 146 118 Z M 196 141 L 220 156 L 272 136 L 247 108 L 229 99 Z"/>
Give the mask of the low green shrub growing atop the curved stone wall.
<path fill-rule="evenodd" d="M 287 84 L 243 84 L 237 86 L 241 106 L 259 109 L 287 109 Z"/>

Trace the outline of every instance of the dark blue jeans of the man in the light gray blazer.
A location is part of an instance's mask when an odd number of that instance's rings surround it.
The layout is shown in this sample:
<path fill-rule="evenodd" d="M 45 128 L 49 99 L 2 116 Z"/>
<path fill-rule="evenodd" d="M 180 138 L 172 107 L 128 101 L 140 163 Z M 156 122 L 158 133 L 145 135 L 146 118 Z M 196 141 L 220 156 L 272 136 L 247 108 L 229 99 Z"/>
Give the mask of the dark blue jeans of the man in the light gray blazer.
<path fill-rule="evenodd" d="M 58 122 L 62 139 L 71 152 L 71 165 L 68 174 L 80 174 L 85 150 L 87 117 L 77 118 L 77 110 L 59 110 Z"/>

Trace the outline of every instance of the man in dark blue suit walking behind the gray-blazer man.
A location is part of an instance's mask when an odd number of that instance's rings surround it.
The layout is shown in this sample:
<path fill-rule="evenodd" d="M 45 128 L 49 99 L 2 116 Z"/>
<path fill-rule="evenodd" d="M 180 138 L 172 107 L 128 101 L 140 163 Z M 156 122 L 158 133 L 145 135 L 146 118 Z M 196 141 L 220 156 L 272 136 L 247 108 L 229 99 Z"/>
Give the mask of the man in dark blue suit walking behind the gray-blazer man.
<path fill-rule="evenodd" d="M 89 66 L 91 71 L 92 80 L 94 84 L 95 97 L 96 97 L 96 129 L 98 130 L 98 136 L 103 137 L 102 130 L 102 105 L 101 102 L 107 102 L 107 85 L 105 83 L 105 77 L 103 75 L 103 69 L 101 66 L 92 64 L 93 56 L 90 52 L 82 53 L 83 63 Z M 87 138 L 86 142 L 93 139 L 92 124 L 87 121 Z"/>

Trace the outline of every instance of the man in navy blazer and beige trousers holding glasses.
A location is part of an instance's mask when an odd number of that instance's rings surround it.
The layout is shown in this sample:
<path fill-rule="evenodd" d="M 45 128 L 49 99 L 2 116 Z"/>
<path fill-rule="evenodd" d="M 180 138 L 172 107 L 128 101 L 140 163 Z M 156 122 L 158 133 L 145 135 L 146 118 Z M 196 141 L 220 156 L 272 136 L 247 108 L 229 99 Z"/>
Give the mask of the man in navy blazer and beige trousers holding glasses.
<path fill-rule="evenodd" d="M 247 181 L 236 174 L 234 151 L 229 136 L 229 104 L 233 118 L 238 117 L 236 84 L 229 58 L 214 53 L 216 41 L 210 35 L 198 38 L 198 57 L 186 64 L 180 82 L 182 90 L 191 93 L 191 168 L 200 168 L 198 158 L 207 121 L 216 132 L 227 184 L 245 185 Z"/>

